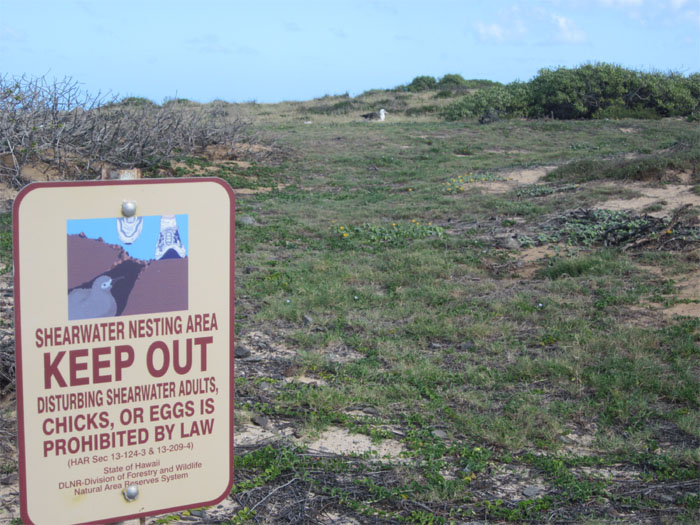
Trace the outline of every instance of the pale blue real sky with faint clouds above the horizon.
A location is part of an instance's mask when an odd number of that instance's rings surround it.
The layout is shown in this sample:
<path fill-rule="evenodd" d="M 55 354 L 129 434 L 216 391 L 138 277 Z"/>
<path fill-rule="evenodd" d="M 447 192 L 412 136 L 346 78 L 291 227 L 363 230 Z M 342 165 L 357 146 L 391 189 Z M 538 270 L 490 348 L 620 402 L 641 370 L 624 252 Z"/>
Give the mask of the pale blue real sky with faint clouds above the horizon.
<path fill-rule="evenodd" d="M 155 102 L 279 102 L 418 75 L 700 71 L 700 0 L 0 0 L 0 74 Z"/>

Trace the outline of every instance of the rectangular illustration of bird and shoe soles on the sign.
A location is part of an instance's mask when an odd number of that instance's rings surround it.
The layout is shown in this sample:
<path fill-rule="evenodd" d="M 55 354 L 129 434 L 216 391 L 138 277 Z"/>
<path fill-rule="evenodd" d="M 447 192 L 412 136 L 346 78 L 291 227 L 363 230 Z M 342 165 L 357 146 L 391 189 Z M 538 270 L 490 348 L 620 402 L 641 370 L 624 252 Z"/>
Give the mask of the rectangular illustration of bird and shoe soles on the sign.
<path fill-rule="evenodd" d="M 187 310 L 188 215 L 68 220 L 68 319 Z"/>

